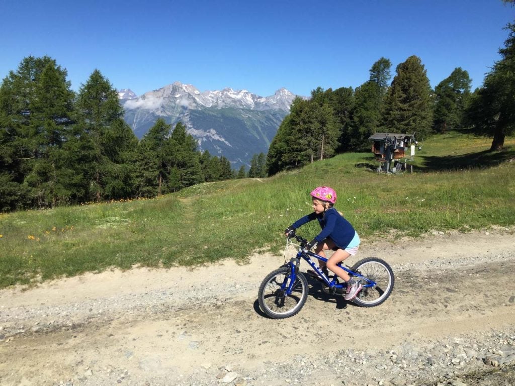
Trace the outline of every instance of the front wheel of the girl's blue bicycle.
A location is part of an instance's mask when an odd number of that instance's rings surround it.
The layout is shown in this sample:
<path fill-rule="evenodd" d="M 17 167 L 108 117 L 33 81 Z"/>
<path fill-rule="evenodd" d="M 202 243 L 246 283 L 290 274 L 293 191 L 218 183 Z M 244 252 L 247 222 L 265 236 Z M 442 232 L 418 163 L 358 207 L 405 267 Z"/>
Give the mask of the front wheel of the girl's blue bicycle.
<path fill-rule="evenodd" d="M 286 293 L 291 283 L 290 267 L 281 267 L 270 272 L 259 288 L 258 301 L 261 309 L 270 318 L 284 319 L 295 315 L 304 306 L 309 291 L 307 279 L 298 272 L 291 293 Z"/>

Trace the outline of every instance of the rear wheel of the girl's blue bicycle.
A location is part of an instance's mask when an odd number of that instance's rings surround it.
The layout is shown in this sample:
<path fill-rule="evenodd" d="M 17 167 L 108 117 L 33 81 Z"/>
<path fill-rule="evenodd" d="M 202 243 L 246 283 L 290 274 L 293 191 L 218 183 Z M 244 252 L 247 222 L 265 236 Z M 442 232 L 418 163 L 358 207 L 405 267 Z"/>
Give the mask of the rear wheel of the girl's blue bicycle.
<path fill-rule="evenodd" d="M 363 288 L 359 291 L 353 300 L 355 304 L 361 307 L 375 307 L 388 299 L 393 290 L 395 278 L 393 270 L 386 261 L 376 257 L 368 257 L 356 262 L 351 270 L 376 283 L 374 287 Z M 355 277 L 355 280 L 359 281 L 357 277 Z"/>

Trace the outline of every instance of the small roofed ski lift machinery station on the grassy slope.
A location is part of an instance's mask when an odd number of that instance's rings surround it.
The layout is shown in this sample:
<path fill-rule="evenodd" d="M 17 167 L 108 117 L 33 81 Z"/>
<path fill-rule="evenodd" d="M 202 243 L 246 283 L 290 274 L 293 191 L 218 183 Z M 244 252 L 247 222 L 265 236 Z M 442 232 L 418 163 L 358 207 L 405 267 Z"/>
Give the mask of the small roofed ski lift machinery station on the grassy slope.
<path fill-rule="evenodd" d="M 413 172 L 415 149 L 422 150 L 424 140 L 413 134 L 375 133 L 368 139 L 372 141 L 372 153 L 377 162 L 377 172 L 400 173 L 409 169 Z"/>

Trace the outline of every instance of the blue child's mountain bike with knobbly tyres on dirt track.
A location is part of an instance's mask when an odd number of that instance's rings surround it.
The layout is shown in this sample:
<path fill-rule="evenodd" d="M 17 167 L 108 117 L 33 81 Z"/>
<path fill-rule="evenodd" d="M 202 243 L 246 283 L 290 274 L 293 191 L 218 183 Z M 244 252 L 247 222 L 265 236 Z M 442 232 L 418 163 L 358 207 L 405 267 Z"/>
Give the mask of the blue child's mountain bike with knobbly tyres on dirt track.
<path fill-rule="evenodd" d="M 259 288 L 259 305 L 263 312 L 273 319 L 289 318 L 298 313 L 307 299 L 309 288 L 306 276 L 299 271 L 300 259 L 304 259 L 318 273 L 322 280 L 324 292 L 343 295 L 346 293 L 346 284 L 338 276 L 327 276 L 315 264 L 312 258 L 327 261 L 327 258 L 317 255 L 304 247 L 307 240 L 294 235 L 300 245 L 297 255 L 292 257 L 282 267 L 270 272 Z M 286 247 L 290 239 L 286 240 Z M 393 271 L 388 263 L 376 257 L 368 257 L 356 262 L 352 268 L 338 265 L 354 278 L 361 282 L 363 289 L 353 302 L 362 307 L 375 307 L 382 304 L 393 290 Z"/>

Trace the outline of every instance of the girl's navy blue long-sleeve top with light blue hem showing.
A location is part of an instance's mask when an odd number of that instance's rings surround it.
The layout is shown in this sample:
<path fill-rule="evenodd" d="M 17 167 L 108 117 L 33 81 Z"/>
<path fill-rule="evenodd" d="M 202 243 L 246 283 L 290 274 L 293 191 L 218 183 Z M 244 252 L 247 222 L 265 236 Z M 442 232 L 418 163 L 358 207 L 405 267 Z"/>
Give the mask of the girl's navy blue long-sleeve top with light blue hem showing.
<path fill-rule="evenodd" d="M 310 213 L 298 219 L 291 226 L 297 229 L 301 225 L 315 219 L 318 220 L 322 228 L 322 232 L 315 237 L 317 242 L 322 242 L 329 237 L 334 241 L 336 246 L 341 249 L 354 248 L 359 245 L 359 236 L 354 230 L 354 227 L 344 216 L 340 215 L 335 208 L 329 208 L 325 210 L 324 213 L 320 214 L 316 214 L 315 212 Z M 352 244 L 355 245 L 349 245 L 351 241 Z"/>

